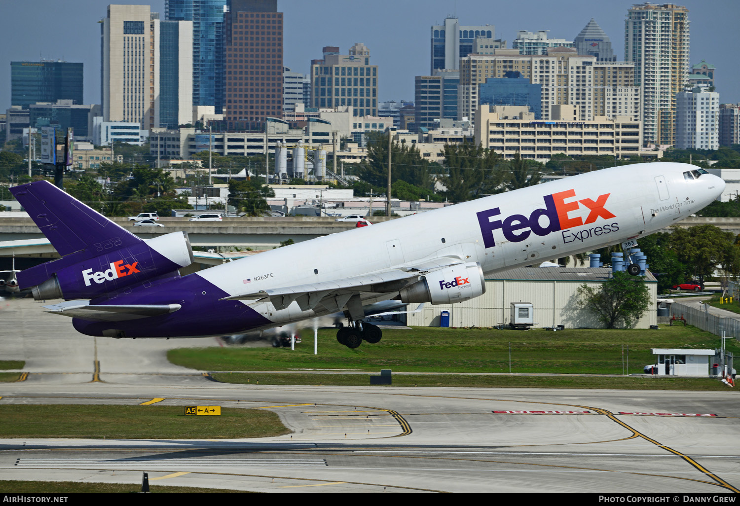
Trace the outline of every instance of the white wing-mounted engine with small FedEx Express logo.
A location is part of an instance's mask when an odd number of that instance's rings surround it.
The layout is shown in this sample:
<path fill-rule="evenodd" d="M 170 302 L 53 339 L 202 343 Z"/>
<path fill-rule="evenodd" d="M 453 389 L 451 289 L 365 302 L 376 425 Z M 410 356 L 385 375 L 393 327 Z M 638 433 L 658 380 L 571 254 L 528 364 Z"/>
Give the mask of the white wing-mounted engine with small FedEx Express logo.
<path fill-rule="evenodd" d="M 426 274 L 422 280 L 400 291 L 401 302 L 451 304 L 485 293 L 480 263 L 449 266 Z"/>

